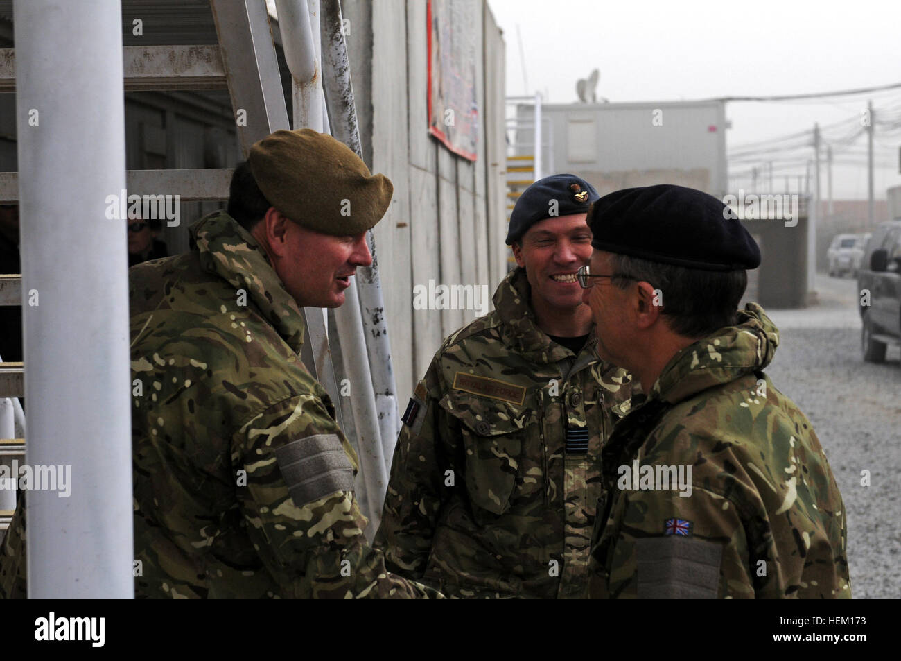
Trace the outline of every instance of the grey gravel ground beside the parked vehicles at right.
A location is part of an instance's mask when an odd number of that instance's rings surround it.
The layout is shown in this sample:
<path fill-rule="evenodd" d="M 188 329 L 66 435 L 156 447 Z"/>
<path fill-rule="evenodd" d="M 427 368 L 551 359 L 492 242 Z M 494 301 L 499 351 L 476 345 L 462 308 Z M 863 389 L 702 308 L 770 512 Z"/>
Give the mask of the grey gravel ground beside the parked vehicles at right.
<path fill-rule="evenodd" d="M 767 372 L 814 425 L 848 515 L 855 599 L 901 596 L 901 364 L 864 363 L 852 280 L 818 278 L 820 304 L 768 310 L 780 344 Z M 861 486 L 863 470 L 870 486 Z"/>

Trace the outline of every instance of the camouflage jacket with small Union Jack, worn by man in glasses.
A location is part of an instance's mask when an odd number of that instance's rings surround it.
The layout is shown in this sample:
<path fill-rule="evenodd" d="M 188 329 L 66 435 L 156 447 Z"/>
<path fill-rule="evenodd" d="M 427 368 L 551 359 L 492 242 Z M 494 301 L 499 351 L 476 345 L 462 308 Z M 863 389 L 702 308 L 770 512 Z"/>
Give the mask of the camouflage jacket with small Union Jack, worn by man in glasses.
<path fill-rule="evenodd" d="M 842 495 L 761 372 L 778 331 L 756 304 L 740 316 L 677 353 L 607 442 L 591 596 L 851 597 Z"/>

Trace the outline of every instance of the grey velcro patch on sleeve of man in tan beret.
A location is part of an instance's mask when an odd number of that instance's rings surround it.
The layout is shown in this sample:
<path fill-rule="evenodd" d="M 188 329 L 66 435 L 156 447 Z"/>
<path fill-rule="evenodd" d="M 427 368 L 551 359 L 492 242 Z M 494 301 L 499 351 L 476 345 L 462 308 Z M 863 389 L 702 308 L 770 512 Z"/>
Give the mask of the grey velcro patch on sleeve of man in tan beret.
<path fill-rule="evenodd" d="M 282 445 L 276 461 L 297 507 L 335 491 L 353 491 L 353 466 L 336 434 L 306 436 Z"/>

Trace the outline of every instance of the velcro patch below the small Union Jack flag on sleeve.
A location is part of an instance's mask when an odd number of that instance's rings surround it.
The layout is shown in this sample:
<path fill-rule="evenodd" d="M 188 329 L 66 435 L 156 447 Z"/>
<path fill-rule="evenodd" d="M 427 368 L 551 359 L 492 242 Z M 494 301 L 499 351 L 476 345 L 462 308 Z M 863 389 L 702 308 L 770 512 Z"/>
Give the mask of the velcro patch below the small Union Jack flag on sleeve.
<path fill-rule="evenodd" d="M 723 546 L 694 537 L 635 540 L 639 599 L 716 599 Z"/>

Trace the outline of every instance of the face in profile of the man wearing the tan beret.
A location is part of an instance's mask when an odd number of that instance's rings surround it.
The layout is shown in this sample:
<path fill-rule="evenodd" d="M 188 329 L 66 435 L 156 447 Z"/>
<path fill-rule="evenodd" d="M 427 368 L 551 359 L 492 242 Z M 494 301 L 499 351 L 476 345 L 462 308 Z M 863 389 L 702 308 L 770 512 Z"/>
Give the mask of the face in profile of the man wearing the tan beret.
<path fill-rule="evenodd" d="M 284 247 L 275 261 L 278 278 L 301 308 L 338 308 L 358 266 L 369 266 L 372 255 L 366 233 L 332 236 L 288 221 Z"/>

